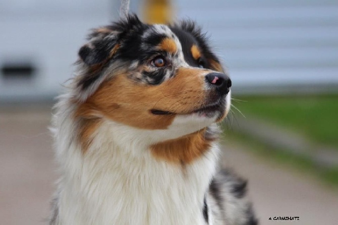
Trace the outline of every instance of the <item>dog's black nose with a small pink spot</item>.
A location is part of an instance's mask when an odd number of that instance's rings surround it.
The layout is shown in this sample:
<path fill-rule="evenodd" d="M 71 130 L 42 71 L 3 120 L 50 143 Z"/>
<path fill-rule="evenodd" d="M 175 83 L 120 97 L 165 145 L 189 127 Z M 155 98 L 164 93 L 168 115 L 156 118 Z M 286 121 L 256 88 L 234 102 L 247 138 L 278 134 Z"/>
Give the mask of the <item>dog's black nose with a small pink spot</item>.
<path fill-rule="evenodd" d="M 206 81 L 211 84 L 220 94 L 228 94 L 231 87 L 230 78 L 221 73 L 210 73 L 205 76 Z"/>

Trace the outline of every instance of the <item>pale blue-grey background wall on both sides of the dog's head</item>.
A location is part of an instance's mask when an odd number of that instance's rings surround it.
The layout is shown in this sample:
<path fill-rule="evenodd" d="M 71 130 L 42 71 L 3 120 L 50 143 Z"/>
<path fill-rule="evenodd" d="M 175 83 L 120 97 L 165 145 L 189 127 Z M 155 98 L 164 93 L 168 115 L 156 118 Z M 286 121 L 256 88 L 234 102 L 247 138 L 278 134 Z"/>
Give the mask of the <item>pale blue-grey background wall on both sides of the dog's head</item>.
<path fill-rule="evenodd" d="M 119 4 L 0 0 L 0 66 L 23 62 L 37 69 L 31 80 L 0 74 L 0 100 L 54 96 L 71 77 L 85 34 L 116 18 Z M 175 5 L 178 17 L 198 21 L 211 35 L 235 91 L 338 86 L 338 1 L 176 0 Z"/>

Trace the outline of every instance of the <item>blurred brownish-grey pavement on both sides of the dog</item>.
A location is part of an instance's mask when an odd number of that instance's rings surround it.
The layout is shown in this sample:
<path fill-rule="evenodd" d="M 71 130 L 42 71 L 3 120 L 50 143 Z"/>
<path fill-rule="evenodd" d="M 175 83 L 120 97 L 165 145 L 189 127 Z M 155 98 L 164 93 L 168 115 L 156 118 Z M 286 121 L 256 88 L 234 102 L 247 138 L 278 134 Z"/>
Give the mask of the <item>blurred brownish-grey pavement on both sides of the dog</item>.
<path fill-rule="evenodd" d="M 0 112 L 0 218 L 4 225 L 46 224 L 57 179 L 47 130 L 48 108 Z M 338 224 L 338 193 L 317 181 L 248 154 L 226 141 L 224 164 L 249 179 L 261 224 Z M 299 216 L 299 221 L 269 221 Z"/>

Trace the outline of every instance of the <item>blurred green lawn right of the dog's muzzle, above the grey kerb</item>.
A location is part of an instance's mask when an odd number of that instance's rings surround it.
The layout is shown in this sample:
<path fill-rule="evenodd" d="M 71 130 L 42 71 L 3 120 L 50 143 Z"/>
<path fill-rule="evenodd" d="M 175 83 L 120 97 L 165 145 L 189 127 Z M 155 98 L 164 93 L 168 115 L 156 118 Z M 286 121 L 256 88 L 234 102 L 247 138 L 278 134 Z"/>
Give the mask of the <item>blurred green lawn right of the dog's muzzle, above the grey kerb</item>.
<path fill-rule="evenodd" d="M 338 149 L 338 95 L 234 98 L 233 105 L 245 116 L 274 122 Z"/>

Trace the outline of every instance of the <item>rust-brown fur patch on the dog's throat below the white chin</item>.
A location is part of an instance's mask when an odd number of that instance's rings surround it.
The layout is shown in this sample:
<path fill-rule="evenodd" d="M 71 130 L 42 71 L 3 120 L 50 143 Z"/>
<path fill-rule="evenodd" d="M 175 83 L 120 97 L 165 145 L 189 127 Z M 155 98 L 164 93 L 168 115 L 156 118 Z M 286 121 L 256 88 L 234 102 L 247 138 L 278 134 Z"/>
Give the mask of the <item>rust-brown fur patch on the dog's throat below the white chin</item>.
<path fill-rule="evenodd" d="M 175 140 L 160 142 L 151 146 L 151 154 L 173 163 L 188 164 L 203 156 L 211 146 L 211 140 L 204 138 L 205 129 Z"/>

